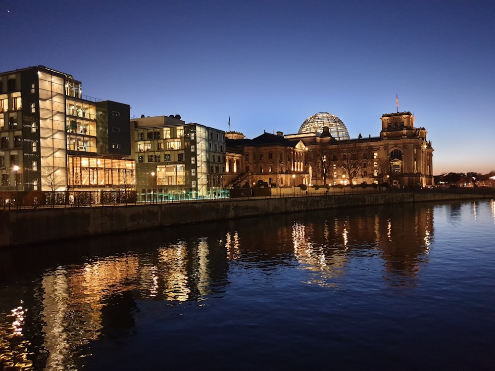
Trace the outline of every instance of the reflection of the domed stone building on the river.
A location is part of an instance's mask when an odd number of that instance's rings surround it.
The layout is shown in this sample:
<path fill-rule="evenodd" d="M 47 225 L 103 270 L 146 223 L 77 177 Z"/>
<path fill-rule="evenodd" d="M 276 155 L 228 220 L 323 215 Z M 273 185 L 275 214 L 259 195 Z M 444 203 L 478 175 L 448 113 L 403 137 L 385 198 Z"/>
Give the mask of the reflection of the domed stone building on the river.
<path fill-rule="evenodd" d="M 417 284 L 433 231 L 431 206 L 401 205 L 373 217 L 329 213 L 318 223 L 296 222 L 292 236 L 297 260 L 317 273 L 311 283 L 334 287 L 351 259 L 371 254 L 381 258 L 389 284 L 400 286 Z"/>

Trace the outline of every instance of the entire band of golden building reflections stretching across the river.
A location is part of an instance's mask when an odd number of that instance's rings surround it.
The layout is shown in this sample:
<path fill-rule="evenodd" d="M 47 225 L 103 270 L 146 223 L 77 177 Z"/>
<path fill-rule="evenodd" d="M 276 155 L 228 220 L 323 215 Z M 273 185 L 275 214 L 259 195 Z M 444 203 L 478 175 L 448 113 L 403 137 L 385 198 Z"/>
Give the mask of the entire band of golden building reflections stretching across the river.
<path fill-rule="evenodd" d="M 492 214 L 495 219 L 495 211 Z M 18 307 L 2 316 L 0 366 L 78 369 L 90 356 L 87 345 L 93 340 L 112 336 L 112 331 L 118 336 L 132 333 L 139 300 L 171 305 L 208 300 L 226 291 L 234 265 L 246 269 L 261 263 L 256 266 L 273 270 L 296 264 L 309 271 L 309 284 L 336 289 L 340 277 L 373 257 L 376 274 L 389 285 L 414 285 L 434 232 L 433 208 L 426 205 L 380 208 L 375 213 L 284 215 L 218 226 L 198 227 L 190 238 L 183 237 L 186 229 L 180 230 L 182 237 L 151 234 L 145 241 L 137 234 L 125 237 L 136 240 L 120 253 L 89 254 L 84 263 L 73 263 L 78 260 L 72 258 L 64 265 L 49 265 L 34 280 L 32 304 L 17 300 L 20 304 L 10 308 Z"/>

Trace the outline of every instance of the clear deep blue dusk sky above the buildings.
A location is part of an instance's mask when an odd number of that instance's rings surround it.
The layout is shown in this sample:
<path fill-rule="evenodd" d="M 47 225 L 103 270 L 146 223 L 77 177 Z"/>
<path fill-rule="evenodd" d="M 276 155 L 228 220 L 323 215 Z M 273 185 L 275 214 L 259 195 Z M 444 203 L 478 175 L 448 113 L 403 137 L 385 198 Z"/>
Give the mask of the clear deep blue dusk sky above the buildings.
<path fill-rule="evenodd" d="M 180 114 L 297 133 L 316 112 L 351 138 L 411 111 L 434 173 L 495 170 L 495 1 L 0 2 L 0 71 L 69 73 L 131 117 Z"/>

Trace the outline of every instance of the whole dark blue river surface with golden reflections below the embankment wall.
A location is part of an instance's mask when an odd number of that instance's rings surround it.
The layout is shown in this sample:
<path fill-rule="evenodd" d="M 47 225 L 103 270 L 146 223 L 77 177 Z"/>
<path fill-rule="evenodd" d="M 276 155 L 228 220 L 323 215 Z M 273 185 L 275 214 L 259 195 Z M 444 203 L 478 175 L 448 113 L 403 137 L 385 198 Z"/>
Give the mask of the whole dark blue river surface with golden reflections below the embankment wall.
<path fill-rule="evenodd" d="M 433 341 L 423 326 L 439 326 L 433 338 L 446 341 L 448 326 L 471 321 L 469 332 L 493 320 L 494 223 L 494 200 L 396 205 L 0 252 L 0 369 L 132 369 L 125 351 L 146 354 L 149 367 L 189 359 L 190 347 L 167 336 L 209 354 L 206 368 L 222 362 L 210 354 L 213 344 L 239 359 L 225 369 L 266 369 L 277 351 L 284 358 L 276 365 L 297 368 L 319 347 L 333 352 L 335 366 L 366 368 L 356 359 L 388 352 L 395 358 L 380 367 L 403 366 L 403 347 Z M 477 334 L 470 354 L 487 350 L 488 337 Z M 162 342 L 170 349 L 157 348 Z M 311 358 L 313 366 L 322 357 Z"/>

